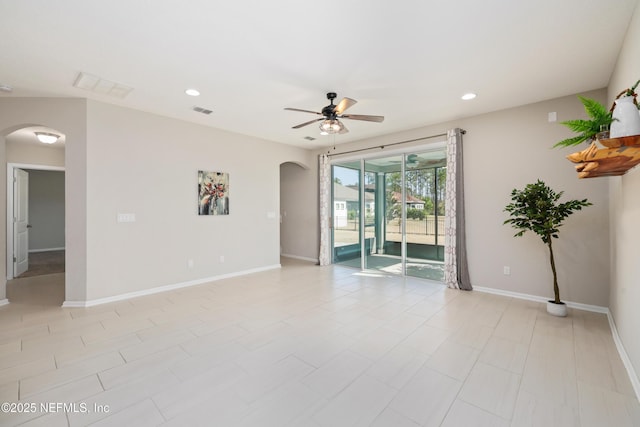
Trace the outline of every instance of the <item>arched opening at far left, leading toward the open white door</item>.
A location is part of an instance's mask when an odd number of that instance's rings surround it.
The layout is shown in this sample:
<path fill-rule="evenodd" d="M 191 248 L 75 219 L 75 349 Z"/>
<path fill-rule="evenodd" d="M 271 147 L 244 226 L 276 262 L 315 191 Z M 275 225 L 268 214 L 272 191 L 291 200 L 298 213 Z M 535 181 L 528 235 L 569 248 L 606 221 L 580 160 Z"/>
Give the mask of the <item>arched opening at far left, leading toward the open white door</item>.
<path fill-rule="evenodd" d="M 5 136 L 9 301 L 64 302 L 64 143 L 62 132 L 46 126 L 17 126 Z"/>

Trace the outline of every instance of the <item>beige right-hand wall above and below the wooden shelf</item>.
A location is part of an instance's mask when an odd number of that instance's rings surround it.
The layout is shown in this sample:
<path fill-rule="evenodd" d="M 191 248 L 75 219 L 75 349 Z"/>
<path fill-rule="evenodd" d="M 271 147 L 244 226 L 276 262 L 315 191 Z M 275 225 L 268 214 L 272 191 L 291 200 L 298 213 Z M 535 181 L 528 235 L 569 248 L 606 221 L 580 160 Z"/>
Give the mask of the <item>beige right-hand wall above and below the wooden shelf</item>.
<path fill-rule="evenodd" d="M 640 79 L 640 6 L 629 25 L 609 83 L 609 102 Z M 640 170 L 609 178 L 611 193 L 610 309 L 631 363 L 640 373 Z M 636 379 L 638 381 L 638 379 Z"/>

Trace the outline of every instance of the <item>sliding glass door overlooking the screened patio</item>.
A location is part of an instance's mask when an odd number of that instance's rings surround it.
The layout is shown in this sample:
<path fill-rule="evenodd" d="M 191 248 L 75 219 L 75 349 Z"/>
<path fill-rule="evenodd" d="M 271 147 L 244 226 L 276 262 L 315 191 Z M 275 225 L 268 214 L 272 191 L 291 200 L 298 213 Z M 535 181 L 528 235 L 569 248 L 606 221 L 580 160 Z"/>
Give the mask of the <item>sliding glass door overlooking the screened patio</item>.
<path fill-rule="evenodd" d="M 337 162 L 333 261 L 443 280 L 444 149 Z"/>

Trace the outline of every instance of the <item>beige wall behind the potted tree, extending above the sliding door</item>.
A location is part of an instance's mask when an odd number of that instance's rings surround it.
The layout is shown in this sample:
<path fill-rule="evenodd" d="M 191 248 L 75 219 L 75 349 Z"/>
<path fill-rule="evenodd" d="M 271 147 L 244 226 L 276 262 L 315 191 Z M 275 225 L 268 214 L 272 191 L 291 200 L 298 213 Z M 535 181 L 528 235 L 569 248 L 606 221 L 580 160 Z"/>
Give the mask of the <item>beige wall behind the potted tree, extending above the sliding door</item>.
<path fill-rule="evenodd" d="M 584 95 L 605 101 L 606 92 Z M 428 126 L 354 144 L 338 145 L 335 152 L 440 134 L 461 127 L 464 136 L 464 171 L 468 257 L 471 282 L 542 297 L 552 297 L 552 274 L 546 246 L 534 235 L 513 238 L 502 223 L 504 206 L 513 188 L 540 178 L 568 198 L 588 198 L 591 206 L 570 217 L 554 241 L 561 297 L 565 301 L 609 305 L 609 231 L 606 179 L 578 180 L 565 156 L 578 149 L 552 149 L 571 132 L 548 122 L 585 117 L 576 96 L 553 99 L 455 122 Z M 442 139 L 442 138 L 440 138 Z M 427 144 L 429 141 L 421 144 Z M 420 144 L 411 144 L 415 147 Z M 326 152 L 326 150 L 324 150 Z M 384 156 L 384 150 L 374 152 Z M 314 209 L 317 209 L 314 207 Z M 503 274 L 511 267 L 511 275 Z"/>

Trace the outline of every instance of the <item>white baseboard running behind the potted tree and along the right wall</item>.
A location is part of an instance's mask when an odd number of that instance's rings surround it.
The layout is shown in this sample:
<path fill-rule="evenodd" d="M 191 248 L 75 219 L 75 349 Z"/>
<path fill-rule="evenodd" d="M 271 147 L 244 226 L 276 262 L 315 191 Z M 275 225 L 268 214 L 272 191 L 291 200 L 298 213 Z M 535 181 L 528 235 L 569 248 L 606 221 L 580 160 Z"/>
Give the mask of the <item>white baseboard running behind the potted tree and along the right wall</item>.
<path fill-rule="evenodd" d="M 488 294 L 502 295 L 506 297 L 524 299 L 528 301 L 541 302 L 545 304 L 549 300 L 549 298 L 540 297 L 537 295 L 521 294 L 518 292 L 504 291 L 502 289 L 485 288 L 482 286 L 474 286 L 473 290 L 479 291 L 479 292 L 485 292 Z M 631 359 L 629 359 L 629 355 L 624 349 L 624 345 L 622 345 L 622 340 L 620 339 L 620 335 L 618 335 L 618 329 L 616 328 L 616 323 L 613 320 L 613 316 L 611 315 L 611 311 L 609 311 L 609 308 L 602 307 L 599 305 L 582 304 L 579 302 L 570 302 L 570 301 L 565 301 L 565 304 L 567 304 L 567 307 L 575 308 L 578 310 L 591 311 L 594 313 L 602 313 L 607 315 L 607 319 L 609 320 L 609 327 L 611 329 L 611 335 L 613 336 L 613 341 L 616 343 L 616 349 L 618 350 L 620 359 L 622 359 L 622 363 L 624 364 L 624 367 L 627 370 L 627 375 L 629 375 L 629 381 L 631 381 L 633 390 L 636 393 L 636 398 L 640 402 L 640 379 L 638 379 L 638 374 L 636 373 L 635 369 L 633 368 L 633 365 L 631 364 Z"/>

